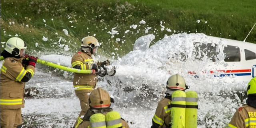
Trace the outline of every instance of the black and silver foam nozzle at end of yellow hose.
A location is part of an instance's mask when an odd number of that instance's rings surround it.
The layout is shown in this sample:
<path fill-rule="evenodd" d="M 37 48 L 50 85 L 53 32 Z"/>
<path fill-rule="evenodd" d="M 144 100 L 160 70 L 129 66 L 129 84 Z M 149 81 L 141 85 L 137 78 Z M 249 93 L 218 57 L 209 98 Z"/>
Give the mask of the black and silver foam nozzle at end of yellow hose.
<path fill-rule="evenodd" d="M 101 77 L 106 75 L 114 76 L 116 74 L 116 67 L 112 65 L 98 66 L 98 72 L 100 72 L 99 76 Z"/>

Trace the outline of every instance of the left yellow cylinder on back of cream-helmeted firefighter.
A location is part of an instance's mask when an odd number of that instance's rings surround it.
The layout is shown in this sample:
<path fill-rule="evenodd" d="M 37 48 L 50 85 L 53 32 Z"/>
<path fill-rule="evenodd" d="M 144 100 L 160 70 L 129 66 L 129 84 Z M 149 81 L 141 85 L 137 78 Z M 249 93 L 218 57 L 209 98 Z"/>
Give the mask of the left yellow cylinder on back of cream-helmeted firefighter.
<path fill-rule="evenodd" d="M 171 103 L 172 128 L 185 128 L 186 93 L 182 90 L 174 91 Z"/>

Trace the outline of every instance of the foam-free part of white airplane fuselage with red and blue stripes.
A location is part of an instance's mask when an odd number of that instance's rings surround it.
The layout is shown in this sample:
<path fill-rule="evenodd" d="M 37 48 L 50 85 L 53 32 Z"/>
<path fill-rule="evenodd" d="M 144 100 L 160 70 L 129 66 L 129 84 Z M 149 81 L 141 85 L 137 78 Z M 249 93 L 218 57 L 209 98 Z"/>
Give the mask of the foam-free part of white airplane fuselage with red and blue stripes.
<path fill-rule="evenodd" d="M 211 43 L 204 44 L 200 40 L 194 42 L 196 49 L 200 48 L 200 52 L 204 52 L 201 54 L 213 57 L 212 62 L 208 64 L 211 74 L 218 77 L 236 76 L 238 81 L 249 81 L 256 77 L 256 44 L 213 36 L 207 37 L 212 41 L 225 42 L 224 49 L 222 51 L 217 50 L 217 52 L 216 47 L 212 46 Z M 216 62 L 214 56 L 219 54 L 218 52 L 223 52 L 225 58 Z M 197 59 L 200 60 L 202 57 L 197 57 Z M 196 74 L 196 72 L 189 73 Z"/>

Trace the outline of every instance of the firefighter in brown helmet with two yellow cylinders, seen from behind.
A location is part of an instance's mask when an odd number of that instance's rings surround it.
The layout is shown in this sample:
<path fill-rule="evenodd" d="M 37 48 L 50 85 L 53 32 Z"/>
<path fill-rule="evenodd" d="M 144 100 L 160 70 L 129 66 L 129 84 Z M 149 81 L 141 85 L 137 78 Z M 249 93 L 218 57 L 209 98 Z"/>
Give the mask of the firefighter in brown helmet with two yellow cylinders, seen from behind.
<path fill-rule="evenodd" d="M 93 90 L 88 102 L 90 108 L 78 128 L 129 128 L 120 114 L 110 108 L 114 99 L 110 98 L 106 90 L 102 88 Z"/>

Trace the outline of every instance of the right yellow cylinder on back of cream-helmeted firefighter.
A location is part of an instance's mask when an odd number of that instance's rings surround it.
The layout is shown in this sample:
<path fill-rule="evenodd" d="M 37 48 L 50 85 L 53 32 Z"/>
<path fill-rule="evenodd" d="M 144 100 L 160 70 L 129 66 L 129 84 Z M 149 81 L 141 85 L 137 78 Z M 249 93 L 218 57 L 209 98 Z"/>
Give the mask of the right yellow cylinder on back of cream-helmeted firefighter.
<path fill-rule="evenodd" d="M 195 91 L 186 92 L 186 122 L 185 128 L 197 128 L 198 94 Z"/>

